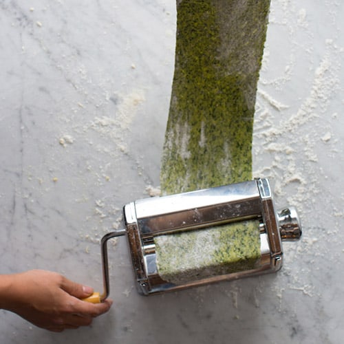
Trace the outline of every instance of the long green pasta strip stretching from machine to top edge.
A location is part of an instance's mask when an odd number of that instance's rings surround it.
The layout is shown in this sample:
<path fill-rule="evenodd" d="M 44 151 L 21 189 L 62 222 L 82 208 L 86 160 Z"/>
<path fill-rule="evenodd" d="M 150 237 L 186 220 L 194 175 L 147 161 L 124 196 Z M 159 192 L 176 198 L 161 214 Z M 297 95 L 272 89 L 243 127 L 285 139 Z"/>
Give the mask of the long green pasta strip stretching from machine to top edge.
<path fill-rule="evenodd" d="M 270 0 L 183 0 L 160 173 L 163 193 L 252 179 Z"/>

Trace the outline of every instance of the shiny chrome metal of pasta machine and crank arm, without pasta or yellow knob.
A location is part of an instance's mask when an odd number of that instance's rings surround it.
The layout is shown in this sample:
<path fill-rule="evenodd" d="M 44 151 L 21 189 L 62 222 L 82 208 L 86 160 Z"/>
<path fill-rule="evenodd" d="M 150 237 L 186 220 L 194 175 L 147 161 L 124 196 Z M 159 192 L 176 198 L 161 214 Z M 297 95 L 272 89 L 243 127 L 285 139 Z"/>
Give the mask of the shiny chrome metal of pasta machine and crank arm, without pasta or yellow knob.
<path fill-rule="evenodd" d="M 127 235 L 136 286 L 144 295 L 275 272 L 283 262 L 282 241 L 301 237 L 297 211 L 294 207 L 276 211 L 266 178 L 137 200 L 125 205 L 123 213 L 125 229 L 108 233 L 102 239 L 104 293 L 101 299 L 109 294 L 107 240 L 112 237 Z M 259 219 L 261 257 L 257 268 L 182 285 L 160 278 L 155 256 L 156 235 L 210 228 L 243 219 Z"/>

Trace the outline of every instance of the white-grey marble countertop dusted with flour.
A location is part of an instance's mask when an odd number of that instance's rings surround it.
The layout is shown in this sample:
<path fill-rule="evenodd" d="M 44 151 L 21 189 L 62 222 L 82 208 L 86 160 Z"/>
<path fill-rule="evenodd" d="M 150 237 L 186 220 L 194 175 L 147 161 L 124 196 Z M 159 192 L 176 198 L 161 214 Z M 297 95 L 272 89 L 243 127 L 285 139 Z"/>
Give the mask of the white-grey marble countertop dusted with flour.
<path fill-rule="evenodd" d="M 255 176 L 299 209 L 274 275 L 137 294 L 109 246 L 110 312 L 54 334 L 1 311 L 1 343 L 341 343 L 344 3 L 272 0 Z M 175 1 L 0 3 L 1 273 L 55 270 L 102 289 L 100 238 L 159 186 Z"/>

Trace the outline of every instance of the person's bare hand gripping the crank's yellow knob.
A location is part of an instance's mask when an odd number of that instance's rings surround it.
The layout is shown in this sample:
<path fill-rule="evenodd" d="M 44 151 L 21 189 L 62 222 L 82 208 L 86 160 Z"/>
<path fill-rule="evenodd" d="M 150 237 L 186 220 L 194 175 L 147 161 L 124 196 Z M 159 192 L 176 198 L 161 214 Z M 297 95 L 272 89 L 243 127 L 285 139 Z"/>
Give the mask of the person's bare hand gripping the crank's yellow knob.
<path fill-rule="evenodd" d="M 69 281 L 56 272 L 30 270 L 6 275 L 5 305 L 2 308 L 17 313 L 36 326 L 54 332 L 91 325 L 93 319 L 109 310 L 112 301 L 88 303 L 93 289 Z M 1 277 L 2 278 L 2 277 Z"/>

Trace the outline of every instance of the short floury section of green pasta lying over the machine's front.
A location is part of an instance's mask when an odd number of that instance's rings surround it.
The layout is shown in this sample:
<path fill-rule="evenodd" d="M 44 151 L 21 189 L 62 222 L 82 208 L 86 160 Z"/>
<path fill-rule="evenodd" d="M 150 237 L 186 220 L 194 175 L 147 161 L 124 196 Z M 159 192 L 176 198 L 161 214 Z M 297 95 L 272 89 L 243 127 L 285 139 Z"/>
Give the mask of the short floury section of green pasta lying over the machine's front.
<path fill-rule="evenodd" d="M 161 235 L 155 251 L 160 277 L 174 284 L 250 270 L 260 257 L 259 222 Z"/>

